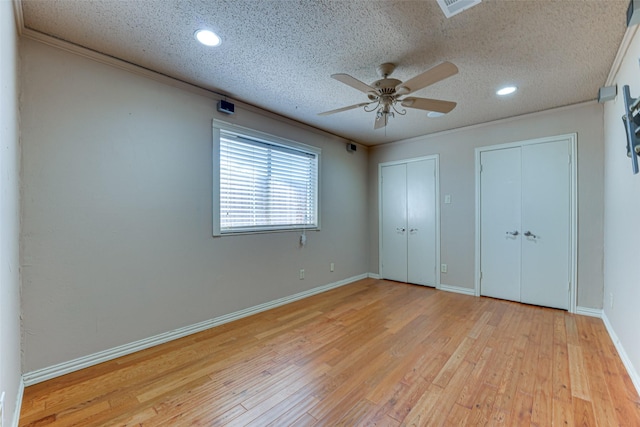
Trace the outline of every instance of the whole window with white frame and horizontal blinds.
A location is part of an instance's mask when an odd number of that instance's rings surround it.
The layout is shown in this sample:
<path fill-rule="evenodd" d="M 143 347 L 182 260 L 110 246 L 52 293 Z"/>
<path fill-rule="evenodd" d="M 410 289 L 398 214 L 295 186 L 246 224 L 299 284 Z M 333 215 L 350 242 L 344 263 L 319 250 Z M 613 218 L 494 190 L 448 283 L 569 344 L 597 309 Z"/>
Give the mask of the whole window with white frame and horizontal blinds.
<path fill-rule="evenodd" d="M 320 150 L 214 122 L 214 235 L 318 229 Z"/>

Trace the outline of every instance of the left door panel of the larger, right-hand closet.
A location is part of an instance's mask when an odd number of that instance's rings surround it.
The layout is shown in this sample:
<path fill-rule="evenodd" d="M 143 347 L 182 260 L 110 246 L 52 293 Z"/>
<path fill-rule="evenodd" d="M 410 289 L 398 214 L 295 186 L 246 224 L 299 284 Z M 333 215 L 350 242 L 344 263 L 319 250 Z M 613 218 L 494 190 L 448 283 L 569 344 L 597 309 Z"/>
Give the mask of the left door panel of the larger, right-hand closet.
<path fill-rule="evenodd" d="M 480 155 L 481 295 L 520 301 L 521 149 Z"/>

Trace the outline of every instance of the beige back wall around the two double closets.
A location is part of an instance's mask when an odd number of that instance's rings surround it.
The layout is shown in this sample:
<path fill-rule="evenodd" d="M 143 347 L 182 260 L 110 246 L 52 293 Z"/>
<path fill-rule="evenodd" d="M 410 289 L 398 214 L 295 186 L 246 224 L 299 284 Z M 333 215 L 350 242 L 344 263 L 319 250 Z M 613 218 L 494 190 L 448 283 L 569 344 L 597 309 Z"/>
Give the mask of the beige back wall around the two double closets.
<path fill-rule="evenodd" d="M 429 120 L 426 119 L 425 120 Z M 437 119 L 435 119 L 437 120 Z M 441 283 L 472 289 L 475 263 L 475 148 L 528 139 L 578 134 L 578 301 L 601 308 L 603 287 L 603 130 L 596 103 L 547 111 L 391 143 L 371 150 L 369 233 L 371 271 L 378 271 L 378 164 L 440 155 Z M 541 171 L 543 173 L 543 171 Z M 451 204 L 444 196 L 451 195 Z"/>

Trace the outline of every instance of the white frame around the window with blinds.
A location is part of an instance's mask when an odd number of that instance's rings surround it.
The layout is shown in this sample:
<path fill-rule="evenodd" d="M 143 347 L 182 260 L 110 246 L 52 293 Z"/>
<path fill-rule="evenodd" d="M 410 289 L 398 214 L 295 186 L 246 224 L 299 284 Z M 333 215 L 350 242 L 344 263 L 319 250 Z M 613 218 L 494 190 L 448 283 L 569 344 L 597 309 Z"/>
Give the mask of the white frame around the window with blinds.
<path fill-rule="evenodd" d="M 223 122 L 220 120 L 213 120 L 212 123 L 213 129 L 213 141 L 212 141 L 212 161 L 213 161 L 213 173 L 212 173 L 212 182 L 213 182 L 213 191 L 212 191 L 212 219 L 213 219 L 213 236 L 214 237 L 222 237 L 222 236 L 237 236 L 237 235 L 245 235 L 245 234 L 263 234 L 263 233 L 282 233 L 282 232 L 298 232 L 300 230 L 320 230 L 320 176 L 321 176 L 321 162 L 322 162 L 322 150 L 318 147 L 314 147 L 311 145 L 303 144 L 301 142 L 292 141 L 286 138 L 281 138 L 279 136 L 271 135 L 265 132 L 260 132 L 254 129 L 250 129 L 243 126 L 234 125 L 231 123 Z M 294 226 L 294 227 L 281 227 L 281 228 L 273 228 L 273 226 L 268 226 L 264 228 L 255 227 L 252 229 L 240 229 L 240 230 L 232 230 L 226 231 L 221 228 L 221 217 L 220 217 L 220 132 L 226 131 L 238 134 L 240 136 L 246 137 L 250 140 L 255 140 L 257 142 L 262 142 L 265 144 L 280 146 L 286 149 L 293 149 L 297 151 L 302 151 L 308 154 L 313 154 L 316 157 L 316 189 L 315 189 L 315 210 L 316 210 L 316 224 L 309 226 Z"/>

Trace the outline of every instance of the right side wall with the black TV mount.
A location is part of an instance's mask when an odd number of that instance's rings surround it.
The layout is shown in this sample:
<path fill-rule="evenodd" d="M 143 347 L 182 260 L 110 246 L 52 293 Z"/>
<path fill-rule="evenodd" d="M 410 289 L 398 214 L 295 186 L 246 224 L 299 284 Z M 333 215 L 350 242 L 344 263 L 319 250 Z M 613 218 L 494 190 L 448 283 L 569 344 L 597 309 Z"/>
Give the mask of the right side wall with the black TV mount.
<path fill-rule="evenodd" d="M 615 101 L 607 102 L 604 109 L 604 312 L 633 366 L 632 378 L 640 391 L 640 175 L 631 172 L 631 160 L 625 150 L 626 134 L 620 120 L 624 112 L 622 87 L 629 85 L 631 96 L 640 96 L 638 57 L 640 35 L 633 38 L 612 82 L 618 85 L 619 95 Z"/>

